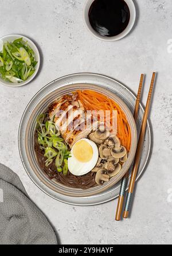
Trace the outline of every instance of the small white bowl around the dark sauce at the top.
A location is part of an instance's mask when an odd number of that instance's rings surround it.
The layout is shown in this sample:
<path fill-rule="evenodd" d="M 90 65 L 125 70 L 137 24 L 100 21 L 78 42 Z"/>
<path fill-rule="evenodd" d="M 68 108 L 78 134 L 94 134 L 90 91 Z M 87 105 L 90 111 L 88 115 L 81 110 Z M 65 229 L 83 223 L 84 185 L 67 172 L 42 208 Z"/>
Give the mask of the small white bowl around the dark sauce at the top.
<path fill-rule="evenodd" d="M 83 14 L 84 17 L 83 18 L 84 18 L 84 23 L 85 23 L 87 29 L 89 30 L 89 32 L 91 32 L 93 34 L 93 36 L 95 36 L 98 39 L 103 40 L 103 41 L 116 41 L 116 40 L 120 40 L 123 37 L 127 36 L 127 34 L 131 31 L 132 27 L 134 26 L 135 19 L 136 19 L 136 10 L 135 10 L 134 2 L 132 0 L 124 0 L 124 1 L 127 3 L 128 8 L 130 9 L 130 21 L 128 23 L 127 28 L 122 33 L 118 34 L 117 36 L 105 37 L 105 36 L 100 36 L 100 34 L 98 34 L 92 28 L 92 26 L 89 22 L 89 17 L 88 17 L 89 8 L 91 7 L 94 0 L 87 0 L 87 2 L 85 3 L 85 7 L 84 7 L 84 14 Z"/>

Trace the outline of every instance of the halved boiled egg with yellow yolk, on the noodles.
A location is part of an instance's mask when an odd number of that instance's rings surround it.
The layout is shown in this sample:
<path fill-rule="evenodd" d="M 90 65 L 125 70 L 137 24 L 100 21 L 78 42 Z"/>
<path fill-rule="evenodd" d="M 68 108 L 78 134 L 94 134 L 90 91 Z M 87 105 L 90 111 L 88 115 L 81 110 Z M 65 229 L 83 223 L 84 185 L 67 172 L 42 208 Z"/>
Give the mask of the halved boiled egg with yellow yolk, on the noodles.
<path fill-rule="evenodd" d="M 90 139 L 80 139 L 71 149 L 71 157 L 68 158 L 69 172 L 81 176 L 91 172 L 99 158 L 99 150 L 95 142 Z"/>

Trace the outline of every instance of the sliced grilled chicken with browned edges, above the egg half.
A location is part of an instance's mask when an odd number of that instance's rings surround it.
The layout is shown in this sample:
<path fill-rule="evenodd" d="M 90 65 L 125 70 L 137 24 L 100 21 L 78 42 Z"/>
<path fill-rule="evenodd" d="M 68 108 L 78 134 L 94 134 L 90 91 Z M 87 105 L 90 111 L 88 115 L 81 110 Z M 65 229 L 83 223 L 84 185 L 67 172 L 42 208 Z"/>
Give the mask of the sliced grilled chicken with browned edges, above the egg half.
<path fill-rule="evenodd" d="M 57 129 L 71 148 L 75 142 L 86 138 L 99 126 L 99 121 L 92 120 L 91 113 L 85 111 L 83 104 L 77 99 L 76 92 L 56 100 L 49 107 L 49 117 L 54 120 Z"/>

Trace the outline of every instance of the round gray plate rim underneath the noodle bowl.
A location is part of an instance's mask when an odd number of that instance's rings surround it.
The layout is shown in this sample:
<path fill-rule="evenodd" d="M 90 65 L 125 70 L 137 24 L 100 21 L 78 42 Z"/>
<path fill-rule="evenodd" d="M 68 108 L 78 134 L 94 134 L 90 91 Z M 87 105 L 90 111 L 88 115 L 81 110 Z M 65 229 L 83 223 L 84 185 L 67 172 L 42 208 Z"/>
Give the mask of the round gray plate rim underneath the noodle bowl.
<path fill-rule="evenodd" d="M 32 181 L 37 185 L 37 187 L 40 188 L 42 191 L 44 191 L 47 195 L 53 197 L 56 200 L 59 200 L 68 204 L 73 204 L 73 205 L 101 204 L 101 203 L 110 201 L 112 199 L 115 199 L 116 197 L 119 196 L 120 183 L 114 185 L 114 187 L 108 189 L 107 191 L 102 192 L 95 196 L 70 197 L 70 196 L 61 195 L 60 193 L 54 192 L 52 189 L 46 187 L 46 185 L 41 183 L 41 181 L 38 179 L 36 174 L 34 174 L 34 172 L 32 171 L 32 168 L 30 168 L 30 166 L 28 165 L 28 161 L 25 156 L 24 131 L 28 123 L 28 118 L 30 113 L 32 113 L 32 111 L 40 102 L 40 100 L 42 100 L 50 92 L 56 90 L 58 87 L 65 86 L 67 84 L 76 84 L 76 83 L 96 84 L 98 86 L 105 87 L 108 90 L 114 92 L 116 95 L 118 95 L 119 98 L 121 98 L 127 104 L 130 110 L 134 112 L 135 100 L 136 100 L 135 95 L 132 94 L 132 92 L 128 90 L 128 88 L 123 86 L 123 84 L 117 82 L 114 79 L 111 79 L 110 77 L 92 74 L 92 73 L 77 73 L 73 75 L 60 77 L 54 80 L 53 82 L 47 84 L 40 91 L 38 91 L 37 94 L 30 101 L 28 106 L 26 107 L 24 114 L 22 115 L 21 123 L 19 125 L 19 131 L 18 131 L 19 154 L 21 156 L 21 160 L 24 165 L 24 168 L 26 169 L 26 172 L 28 173 L 30 179 L 32 179 Z M 144 110 L 142 105 L 140 104 L 139 117 L 136 123 L 138 131 L 140 130 L 143 114 L 144 114 Z M 150 154 L 150 146 L 151 146 L 150 125 L 147 122 L 146 136 L 144 139 L 142 158 L 140 160 L 137 179 L 142 174 L 146 166 L 148 156 Z"/>

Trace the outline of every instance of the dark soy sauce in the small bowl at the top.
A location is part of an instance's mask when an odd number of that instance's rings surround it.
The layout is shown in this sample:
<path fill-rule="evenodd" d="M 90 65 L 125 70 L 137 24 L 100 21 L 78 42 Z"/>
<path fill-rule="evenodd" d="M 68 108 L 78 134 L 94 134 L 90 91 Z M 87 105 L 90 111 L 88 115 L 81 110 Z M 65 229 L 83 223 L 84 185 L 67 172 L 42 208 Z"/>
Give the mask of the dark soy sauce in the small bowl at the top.
<path fill-rule="evenodd" d="M 92 28 L 104 37 L 122 33 L 130 21 L 130 9 L 124 0 L 95 0 L 88 15 Z"/>

